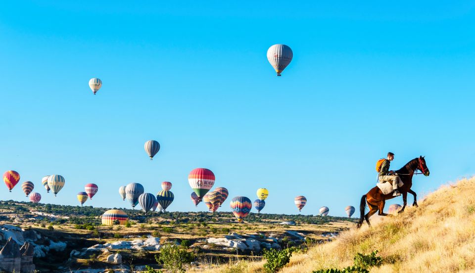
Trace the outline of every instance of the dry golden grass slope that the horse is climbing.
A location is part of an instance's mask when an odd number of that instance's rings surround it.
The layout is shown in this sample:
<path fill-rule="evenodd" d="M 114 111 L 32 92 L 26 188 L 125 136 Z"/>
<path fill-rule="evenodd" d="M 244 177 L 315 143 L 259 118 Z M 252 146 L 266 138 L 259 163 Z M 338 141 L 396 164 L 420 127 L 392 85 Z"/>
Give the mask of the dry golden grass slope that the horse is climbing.
<path fill-rule="evenodd" d="M 357 253 L 374 250 L 383 263 L 372 273 L 475 271 L 475 178 L 442 186 L 421 200 L 419 208 L 371 220 L 373 227 L 347 230 L 330 243 L 293 255 L 280 272 L 342 269 L 353 264 Z M 262 272 L 263 264 L 238 263 L 221 272 Z"/>

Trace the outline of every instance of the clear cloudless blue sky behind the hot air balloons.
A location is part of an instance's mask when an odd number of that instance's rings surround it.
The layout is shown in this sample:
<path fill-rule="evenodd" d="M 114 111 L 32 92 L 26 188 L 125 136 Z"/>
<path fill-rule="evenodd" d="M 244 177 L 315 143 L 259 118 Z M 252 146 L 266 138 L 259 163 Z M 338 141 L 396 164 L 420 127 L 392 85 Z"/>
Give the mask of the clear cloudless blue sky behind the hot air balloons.
<path fill-rule="evenodd" d="M 282 77 L 273 44 L 294 53 Z M 166 180 L 170 211 L 196 211 L 187 177 L 204 167 L 230 191 L 222 210 L 267 187 L 264 213 L 296 213 L 305 195 L 303 214 L 343 216 L 388 151 L 392 169 L 426 156 L 420 196 L 475 173 L 472 1 L 10 1 L 0 60 L 0 171 L 42 203 L 77 205 L 92 182 L 86 205 L 130 207 L 120 185 L 156 194 Z M 50 174 L 66 179 L 56 198 Z M 28 200 L 20 183 L 0 199 Z"/>

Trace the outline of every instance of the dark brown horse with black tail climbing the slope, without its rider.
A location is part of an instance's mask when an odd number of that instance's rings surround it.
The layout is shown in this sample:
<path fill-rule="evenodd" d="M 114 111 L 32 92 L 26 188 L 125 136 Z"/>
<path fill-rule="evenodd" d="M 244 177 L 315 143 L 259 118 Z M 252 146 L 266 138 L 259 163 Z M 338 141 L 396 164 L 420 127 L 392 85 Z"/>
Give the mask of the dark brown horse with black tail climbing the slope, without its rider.
<path fill-rule="evenodd" d="M 426 165 L 426 159 L 424 159 L 423 156 L 420 156 L 419 158 L 414 158 L 413 160 L 409 161 L 404 167 L 396 171 L 396 174 L 399 175 L 399 178 L 401 181 L 404 183 L 402 187 L 399 188 L 399 191 L 402 194 L 402 200 L 404 201 L 404 206 L 402 209 L 399 211 L 399 213 L 403 212 L 404 209 L 406 208 L 407 205 L 407 193 L 411 193 L 414 195 L 414 203 L 412 204 L 413 206 L 418 206 L 417 205 L 417 200 L 416 200 L 416 193 L 411 189 L 412 187 L 412 177 L 414 176 L 414 172 L 416 170 L 421 171 L 425 176 L 429 176 L 429 169 L 427 168 Z M 389 182 L 386 182 L 389 183 Z M 370 224 L 370 217 L 378 212 L 378 215 L 380 216 L 387 216 L 388 214 L 383 213 L 384 209 L 384 204 L 386 203 L 387 199 L 392 199 L 396 196 L 392 196 L 392 192 L 389 194 L 383 194 L 378 186 L 375 186 L 374 188 L 370 189 L 368 193 L 363 195 L 361 197 L 361 203 L 360 203 L 360 221 L 358 222 L 357 227 L 361 227 L 363 225 L 363 220 L 366 220 L 366 223 L 368 223 L 368 226 L 371 226 Z M 370 207 L 370 211 L 365 215 L 365 209 L 366 209 L 366 203 L 368 203 L 368 206 Z"/>

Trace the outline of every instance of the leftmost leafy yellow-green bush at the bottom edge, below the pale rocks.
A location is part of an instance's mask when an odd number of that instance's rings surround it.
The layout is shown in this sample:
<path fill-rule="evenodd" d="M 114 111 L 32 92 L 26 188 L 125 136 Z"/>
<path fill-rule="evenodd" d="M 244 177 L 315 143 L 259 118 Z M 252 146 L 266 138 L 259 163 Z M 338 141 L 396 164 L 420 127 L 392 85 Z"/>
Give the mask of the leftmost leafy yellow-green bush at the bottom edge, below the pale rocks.
<path fill-rule="evenodd" d="M 184 266 L 194 261 L 194 254 L 178 245 L 165 245 L 155 260 L 172 273 L 182 273 Z"/>

